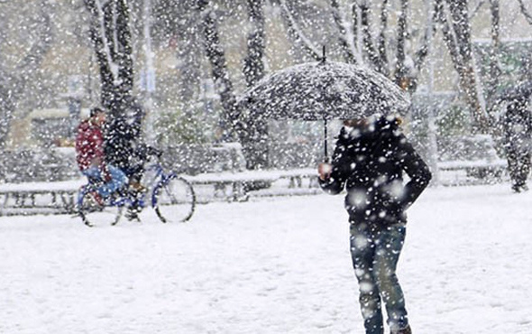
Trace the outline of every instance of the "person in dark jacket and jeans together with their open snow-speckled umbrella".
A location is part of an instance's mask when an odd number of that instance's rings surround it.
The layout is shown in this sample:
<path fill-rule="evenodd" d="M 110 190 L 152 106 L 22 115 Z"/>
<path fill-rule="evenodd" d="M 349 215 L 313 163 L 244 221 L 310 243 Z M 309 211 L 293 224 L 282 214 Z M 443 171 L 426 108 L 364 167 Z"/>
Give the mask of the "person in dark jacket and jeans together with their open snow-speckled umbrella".
<path fill-rule="evenodd" d="M 248 88 L 238 107 L 258 119 L 324 121 L 326 162 L 319 164 L 322 188 L 347 190 L 355 274 L 366 333 L 382 333 L 381 300 L 393 334 L 410 333 L 403 292 L 395 274 L 405 238 L 405 210 L 427 187 L 427 164 L 399 132 L 399 119 L 373 116 L 394 110 L 406 114 L 405 92 L 362 64 L 323 59 L 290 66 Z M 369 118 L 368 118 L 369 117 Z M 327 121 L 346 119 L 332 163 L 327 155 Z M 402 184 L 402 172 L 410 181 Z"/>

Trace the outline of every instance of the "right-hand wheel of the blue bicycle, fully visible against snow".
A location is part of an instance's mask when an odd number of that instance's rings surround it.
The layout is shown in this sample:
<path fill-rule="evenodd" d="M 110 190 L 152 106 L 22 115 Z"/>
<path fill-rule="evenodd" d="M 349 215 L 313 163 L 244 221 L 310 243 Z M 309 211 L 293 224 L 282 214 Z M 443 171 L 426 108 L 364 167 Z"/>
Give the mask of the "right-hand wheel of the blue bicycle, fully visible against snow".
<path fill-rule="evenodd" d="M 186 222 L 194 214 L 196 194 L 187 180 L 172 175 L 159 182 L 153 189 L 153 209 L 163 223 Z"/>

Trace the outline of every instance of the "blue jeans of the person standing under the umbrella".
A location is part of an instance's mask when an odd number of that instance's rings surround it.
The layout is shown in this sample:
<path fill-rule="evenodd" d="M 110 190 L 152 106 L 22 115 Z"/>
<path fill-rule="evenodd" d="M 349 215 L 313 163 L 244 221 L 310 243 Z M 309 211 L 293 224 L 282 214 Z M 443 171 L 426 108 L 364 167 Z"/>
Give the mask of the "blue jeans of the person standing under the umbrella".
<path fill-rule="evenodd" d="M 386 306 L 391 330 L 408 325 L 405 298 L 395 274 L 405 236 L 402 223 L 381 228 L 351 224 L 351 257 L 366 334 L 384 333 L 381 301 Z"/>

